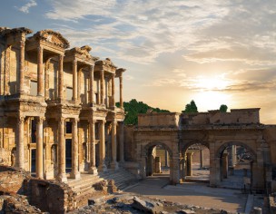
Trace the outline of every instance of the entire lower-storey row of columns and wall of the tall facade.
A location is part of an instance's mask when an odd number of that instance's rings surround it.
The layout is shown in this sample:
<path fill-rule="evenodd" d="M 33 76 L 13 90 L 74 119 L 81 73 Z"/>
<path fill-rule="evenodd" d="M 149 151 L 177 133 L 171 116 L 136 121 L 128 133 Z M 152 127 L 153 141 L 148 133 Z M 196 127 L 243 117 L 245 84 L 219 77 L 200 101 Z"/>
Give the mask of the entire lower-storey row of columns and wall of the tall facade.
<path fill-rule="evenodd" d="M 16 126 L 12 165 L 35 168 L 37 178 L 66 181 L 70 172 L 70 178 L 79 179 L 81 171 L 97 174 L 123 163 L 123 122 L 116 118 L 20 116 Z"/>

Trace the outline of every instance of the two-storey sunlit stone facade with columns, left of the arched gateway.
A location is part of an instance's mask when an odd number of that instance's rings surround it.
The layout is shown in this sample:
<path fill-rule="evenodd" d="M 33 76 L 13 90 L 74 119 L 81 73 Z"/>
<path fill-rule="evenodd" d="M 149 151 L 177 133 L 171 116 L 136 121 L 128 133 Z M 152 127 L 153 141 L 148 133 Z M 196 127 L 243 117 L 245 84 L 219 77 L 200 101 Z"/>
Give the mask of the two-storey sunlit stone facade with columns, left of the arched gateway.
<path fill-rule="evenodd" d="M 62 34 L 0 28 L 0 156 L 36 177 L 77 179 L 123 161 L 123 68 Z M 115 106 L 115 80 L 120 107 Z"/>

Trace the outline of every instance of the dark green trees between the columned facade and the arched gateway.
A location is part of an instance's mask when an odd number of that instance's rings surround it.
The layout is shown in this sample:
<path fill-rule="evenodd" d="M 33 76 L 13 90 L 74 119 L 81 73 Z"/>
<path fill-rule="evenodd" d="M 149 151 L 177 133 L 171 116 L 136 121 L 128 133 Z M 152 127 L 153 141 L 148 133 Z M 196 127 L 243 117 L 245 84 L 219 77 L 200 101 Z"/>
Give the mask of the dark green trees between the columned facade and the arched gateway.
<path fill-rule="evenodd" d="M 116 106 L 120 106 L 119 102 L 116 102 Z M 163 110 L 159 108 L 153 108 L 148 106 L 146 103 L 137 102 L 135 99 L 130 102 L 123 102 L 124 112 L 126 113 L 124 124 L 126 125 L 136 125 L 138 123 L 138 113 L 146 113 L 149 109 L 152 109 L 153 112 L 170 112 L 168 110 Z"/>

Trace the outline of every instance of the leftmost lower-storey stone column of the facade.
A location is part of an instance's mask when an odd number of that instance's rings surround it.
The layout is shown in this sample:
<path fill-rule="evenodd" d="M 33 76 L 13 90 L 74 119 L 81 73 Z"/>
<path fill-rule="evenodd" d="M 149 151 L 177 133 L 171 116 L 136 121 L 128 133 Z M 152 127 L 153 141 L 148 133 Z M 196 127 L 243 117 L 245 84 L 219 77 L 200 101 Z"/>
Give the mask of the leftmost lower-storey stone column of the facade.
<path fill-rule="evenodd" d="M 18 137 L 16 139 L 16 166 L 22 169 L 25 169 L 24 121 L 25 117 L 19 116 L 17 121 Z"/>

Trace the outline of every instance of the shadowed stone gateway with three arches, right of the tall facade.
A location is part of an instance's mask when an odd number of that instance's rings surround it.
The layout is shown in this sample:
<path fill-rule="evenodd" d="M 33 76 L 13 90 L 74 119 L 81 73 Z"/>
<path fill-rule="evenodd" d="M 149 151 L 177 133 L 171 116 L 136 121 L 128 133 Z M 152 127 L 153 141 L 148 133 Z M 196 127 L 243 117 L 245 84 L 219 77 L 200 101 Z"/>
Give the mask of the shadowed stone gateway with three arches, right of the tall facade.
<path fill-rule="evenodd" d="M 272 180 L 271 148 L 276 142 L 276 126 L 261 124 L 259 111 L 140 114 L 133 134 L 138 173 L 143 179 L 153 173 L 153 149 L 161 146 L 169 153 L 170 180 L 179 183 L 187 171 L 188 148 L 195 144 L 210 151 L 212 187 L 222 186 L 231 173 L 240 169 L 244 172 L 243 179 L 248 177 L 252 190 L 268 188 Z"/>

